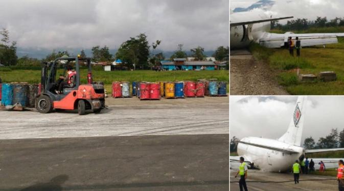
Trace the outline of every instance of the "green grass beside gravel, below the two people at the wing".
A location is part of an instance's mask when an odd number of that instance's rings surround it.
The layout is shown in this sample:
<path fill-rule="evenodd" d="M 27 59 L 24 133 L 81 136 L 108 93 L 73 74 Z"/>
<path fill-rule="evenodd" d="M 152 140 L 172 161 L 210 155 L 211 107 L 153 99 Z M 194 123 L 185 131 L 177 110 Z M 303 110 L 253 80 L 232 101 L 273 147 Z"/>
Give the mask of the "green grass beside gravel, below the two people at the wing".
<path fill-rule="evenodd" d="M 338 38 L 338 42 L 325 49 L 323 46 L 303 48 L 300 58 L 289 56 L 287 49 L 268 49 L 257 44 L 251 45 L 250 50 L 257 59 L 267 61 L 270 68 L 277 71 L 276 79 L 291 95 L 344 95 L 344 38 Z M 337 81 L 300 82 L 297 67 L 300 74 L 334 71 Z"/>

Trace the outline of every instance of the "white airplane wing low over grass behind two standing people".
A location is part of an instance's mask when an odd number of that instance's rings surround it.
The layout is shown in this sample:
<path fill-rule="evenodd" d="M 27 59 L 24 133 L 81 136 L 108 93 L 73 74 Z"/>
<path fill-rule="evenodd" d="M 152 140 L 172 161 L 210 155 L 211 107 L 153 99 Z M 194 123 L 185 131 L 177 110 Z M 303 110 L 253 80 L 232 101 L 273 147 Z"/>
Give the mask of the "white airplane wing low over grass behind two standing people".
<path fill-rule="evenodd" d="M 327 45 L 338 43 L 337 37 L 344 36 L 344 33 L 305 33 L 294 34 L 287 32 L 284 34 L 265 32 L 257 41 L 260 45 L 268 48 L 281 48 L 288 42 L 288 37 L 293 39 L 299 37 L 301 40 L 301 47 L 309 47 L 315 45 Z"/>

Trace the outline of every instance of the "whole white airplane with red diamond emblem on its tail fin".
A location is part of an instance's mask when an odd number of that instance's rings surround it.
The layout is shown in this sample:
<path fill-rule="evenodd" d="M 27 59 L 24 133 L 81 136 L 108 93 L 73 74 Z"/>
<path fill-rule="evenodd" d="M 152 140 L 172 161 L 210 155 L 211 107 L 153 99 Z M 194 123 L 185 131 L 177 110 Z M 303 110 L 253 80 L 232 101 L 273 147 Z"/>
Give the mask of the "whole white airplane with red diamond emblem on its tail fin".
<path fill-rule="evenodd" d="M 309 153 L 342 151 L 344 148 L 305 150 L 301 146 L 307 97 L 299 96 L 294 113 L 291 117 L 287 132 L 277 140 L 246 137 L 238 141 L 237 153 L 231 156 L 231 168 L 238 168 L 239 158 L 242 156 L 250 166 L 266 172 L 287 172 L 295 160 L 304 160 Z M 310 160 L 311 158 L 309 158 Z M 338 166 L 340 158 L 312 158 L 315 168 L 323 161 L 326 168 Z"/>

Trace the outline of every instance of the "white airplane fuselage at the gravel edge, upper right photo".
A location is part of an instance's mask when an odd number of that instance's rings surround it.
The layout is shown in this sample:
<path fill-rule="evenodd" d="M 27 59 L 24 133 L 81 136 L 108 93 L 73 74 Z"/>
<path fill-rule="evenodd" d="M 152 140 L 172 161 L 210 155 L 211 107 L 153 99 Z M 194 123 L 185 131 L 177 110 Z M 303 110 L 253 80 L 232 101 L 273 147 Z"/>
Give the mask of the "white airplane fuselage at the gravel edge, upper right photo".
<path fill-rule="evenodd" d="M 237 23 L 240 20 L 268 19 L 264 12 L 240 12 L 231 14 L 231 22 Z M 270 22 L 257 23 L 254 25 L 241 25 L 231 27 L 230 47 L 231 49 L 241 49 L 248 47 L 251 41 L 258 42 L 265 32 L 270 31 Z"/>

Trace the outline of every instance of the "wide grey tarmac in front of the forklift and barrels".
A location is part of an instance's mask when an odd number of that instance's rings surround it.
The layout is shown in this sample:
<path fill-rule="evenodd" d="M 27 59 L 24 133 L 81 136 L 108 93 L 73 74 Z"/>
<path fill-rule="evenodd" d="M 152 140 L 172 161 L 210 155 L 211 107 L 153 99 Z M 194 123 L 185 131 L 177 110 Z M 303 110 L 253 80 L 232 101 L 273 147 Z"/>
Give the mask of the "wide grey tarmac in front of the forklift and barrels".
<path fill-rule="evenodd" d="M 0 111 L 0 191 L 228 190 L 227 99 Z"/>

